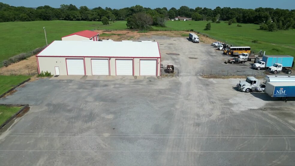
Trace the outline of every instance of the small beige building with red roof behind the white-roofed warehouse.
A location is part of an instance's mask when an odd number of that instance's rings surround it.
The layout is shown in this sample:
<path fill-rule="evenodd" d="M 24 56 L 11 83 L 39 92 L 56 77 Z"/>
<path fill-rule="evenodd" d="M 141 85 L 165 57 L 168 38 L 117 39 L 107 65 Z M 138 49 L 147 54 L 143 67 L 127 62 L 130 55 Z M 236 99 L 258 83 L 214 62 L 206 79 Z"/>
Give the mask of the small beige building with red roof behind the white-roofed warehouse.
<path fill-rule="evenodd" d="M 82 40 L 93 40 L 98 41 L 99 40 L 99 33 L 94 31 L 80 31 L 75 32 L 73 34 L 69 34 L 67 36 L 61 37 L 61 40 L 67 40 L 67 41 L 82 41 Z"/>

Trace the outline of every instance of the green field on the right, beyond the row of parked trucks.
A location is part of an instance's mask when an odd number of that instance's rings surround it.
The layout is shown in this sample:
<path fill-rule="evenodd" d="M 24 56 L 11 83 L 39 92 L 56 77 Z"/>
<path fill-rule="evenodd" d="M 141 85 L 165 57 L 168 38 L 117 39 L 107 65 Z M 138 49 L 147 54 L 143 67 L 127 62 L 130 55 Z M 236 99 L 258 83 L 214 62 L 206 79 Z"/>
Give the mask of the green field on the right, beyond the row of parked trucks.
<path fill-rule="evenodd" d="M 288 31 L 268 32 L 258 30 L 260 25 L 235 23 L 228 25 L 226 22 L 219 24 L 211 22 L 211 30 L 204 31 L 207 21 L 167 21 L 166 28 L 153 27 L 159 30 L 190 30 L 209 34 L 210 37 L 223 41 L 233 46 L 250 46 L 255 51 L 261 49 L 267 55 L 292 55 L 295 56 L 295 29 Z M 237 27 L 237 24 L 242 27 Z M 258 43 L 252 43 L 258 40 Z"/>

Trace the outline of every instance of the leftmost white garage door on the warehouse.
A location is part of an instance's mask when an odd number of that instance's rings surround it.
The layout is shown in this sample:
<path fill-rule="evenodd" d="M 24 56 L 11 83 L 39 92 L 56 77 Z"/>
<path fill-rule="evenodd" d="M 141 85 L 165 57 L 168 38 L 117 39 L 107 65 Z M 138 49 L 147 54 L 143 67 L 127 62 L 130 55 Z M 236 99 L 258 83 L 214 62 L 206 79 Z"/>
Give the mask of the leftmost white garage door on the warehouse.
<path fill-rule="evenodd" d="M 68 75 L 85 75 L 83 59 L 66 59 Z"/>

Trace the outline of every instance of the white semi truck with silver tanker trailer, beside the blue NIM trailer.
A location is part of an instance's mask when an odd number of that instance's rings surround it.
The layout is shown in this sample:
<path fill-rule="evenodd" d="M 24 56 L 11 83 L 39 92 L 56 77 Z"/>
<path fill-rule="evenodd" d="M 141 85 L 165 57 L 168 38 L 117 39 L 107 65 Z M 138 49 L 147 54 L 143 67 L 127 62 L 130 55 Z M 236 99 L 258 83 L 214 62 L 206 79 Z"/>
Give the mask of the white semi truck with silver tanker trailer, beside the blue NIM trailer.
<path fill-rule="evenodd" d="M 255 77 L 247 77 L 246 81 L 240 81 L 236 85 L 238 90 L 249 93 L 249 92 L 262 92 L 265 90 L 267 82 L 295 82 L 295 77 L 292 76 L 266 76 L 264 83 L 261 83 Z"/>

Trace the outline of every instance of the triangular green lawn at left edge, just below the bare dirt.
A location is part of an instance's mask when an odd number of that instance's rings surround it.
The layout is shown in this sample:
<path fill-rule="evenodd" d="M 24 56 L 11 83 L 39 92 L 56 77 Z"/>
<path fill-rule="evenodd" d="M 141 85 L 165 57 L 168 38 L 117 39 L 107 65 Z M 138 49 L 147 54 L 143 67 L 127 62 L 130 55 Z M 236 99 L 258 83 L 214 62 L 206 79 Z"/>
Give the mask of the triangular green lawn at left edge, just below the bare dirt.
<path fill-rule="evenodd" d="M 0 76 L 0 95 L 31 76 Z"/>

